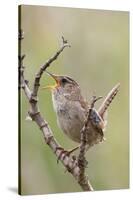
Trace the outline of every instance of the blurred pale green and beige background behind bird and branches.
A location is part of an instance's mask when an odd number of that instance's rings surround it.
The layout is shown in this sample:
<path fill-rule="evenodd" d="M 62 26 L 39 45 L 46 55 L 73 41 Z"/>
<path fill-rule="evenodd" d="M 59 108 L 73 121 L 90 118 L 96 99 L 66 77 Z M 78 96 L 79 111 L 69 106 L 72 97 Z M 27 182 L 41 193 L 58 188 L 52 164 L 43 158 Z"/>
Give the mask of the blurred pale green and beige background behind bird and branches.
<path fill-rule="evenodd" d="M 50 66 L 55 74 L 73 77 L 84 97 L 106 96 L 118 82 L 120 92 L 108 111 L 106 141 L 87 152 L 86 173 L 95 190 L 129 187 L 129 13 L 44 6 L 22 6 L 21 27 L 25 32 L 25 76 L 34 80 L 39 67 L 61 45 L 63 35 L 71 44 Z M 41 86 L 53 83 L 43 75 Z M 99 106 L 100 101 L 97 103 Z M 41 113 L 55 138 L 65 148 L 77 144 L 58 128 L 50 91 L 39 91 Z M 44 194 L 81 191 L 44 143 L 36 124 L 26 121 L 29 105 L 21 95 L 21 191 Z"/>

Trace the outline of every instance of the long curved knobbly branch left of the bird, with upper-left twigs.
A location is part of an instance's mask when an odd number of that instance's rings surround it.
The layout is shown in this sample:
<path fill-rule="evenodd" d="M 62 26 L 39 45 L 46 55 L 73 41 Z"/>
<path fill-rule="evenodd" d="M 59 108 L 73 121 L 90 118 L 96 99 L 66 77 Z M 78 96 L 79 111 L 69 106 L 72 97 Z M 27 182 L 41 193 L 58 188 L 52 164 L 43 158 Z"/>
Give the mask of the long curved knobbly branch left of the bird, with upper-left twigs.
<path fill-rule="evenodd" d="M 29 101 L 30 104 L 29 115 L 36 122 L 36 124 L 42 131 L 45 142 L 49 145 L 53 153 L 56 155 L 57 159 L 59 159 L 64 165 L 64 167 L 67 169 L 67 171 L 73 175 L 73 177 L 76 179 L 76 181 L 79 183 L 79 185 L 83 190 L 91 191 L 93 189 L 89 182 L 86 181 L 85 183 L 83 183 L 82 181 L 79 181 L 81 173 L 77 161 L 74 158 L 70 157 L 70 155 L 66 155 L 65 153 L 63 153 L 59 143 L 53 136 L 50 126 L 48 125 L 47 121 L 43 119 L 38 107 L 37 94 L 40 86 L 40 79 L 43 72 L 50 66 L 52 62 L 54 62 L 58 58 L 58 56 L 61 54 L 64 48 L 70 47 L 70 45 L 62 37 L 63 44 L 61 48 L 48 61 L 46 61 L 44 65 L 41 66 L 41 68 L 39 69 L 38 73 L 35 76 L 33 90 L 31 91 L 28 86 L 28 81 L 25 80 L 24 77 L 23 59 L 25 56 L 21 55 L 21 41 L 23 39 L 21 33 L 22 31 L 20 31 L 19 33 L 19 88 L 22 88 L 24 90 L 24 93 Z"/>

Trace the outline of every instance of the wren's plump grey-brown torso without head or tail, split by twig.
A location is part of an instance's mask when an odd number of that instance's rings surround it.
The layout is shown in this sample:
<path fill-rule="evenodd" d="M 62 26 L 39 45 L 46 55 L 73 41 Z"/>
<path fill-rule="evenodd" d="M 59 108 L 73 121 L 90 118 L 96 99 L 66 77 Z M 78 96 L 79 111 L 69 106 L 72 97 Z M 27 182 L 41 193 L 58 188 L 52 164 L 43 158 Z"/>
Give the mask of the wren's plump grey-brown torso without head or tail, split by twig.
<path fill-rule="evenodd" d="M 72 101 L 64 95 L 53 95 L 53 106 L 57 114 L 57 123 L 62 131 L 73 141 L 80 143 L 81 129 L 87 116 L 87 109 L 79 101 Z M 95 111 L 95 110 L 94 110 Z M 92 112 L 90 124 L 86 129 L 87 144 L 92 146 L 103 140 L 102 127 L 99 127 L 100 118 L 97 112 Z M 94 123 L 95 122 L 95 123 Z"/>

